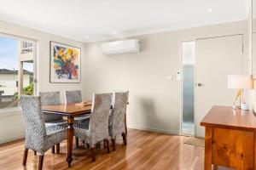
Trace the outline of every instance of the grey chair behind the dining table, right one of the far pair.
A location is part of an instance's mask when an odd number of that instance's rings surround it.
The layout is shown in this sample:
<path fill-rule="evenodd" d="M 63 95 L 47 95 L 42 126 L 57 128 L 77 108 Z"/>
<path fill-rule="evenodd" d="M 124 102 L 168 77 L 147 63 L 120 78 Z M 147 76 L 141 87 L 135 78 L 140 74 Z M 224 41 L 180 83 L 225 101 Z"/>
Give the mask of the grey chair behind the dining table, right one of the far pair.
<path fill-rule="evenodd" d="M 65 91 L 65 103 L 66 104 L 74 104 L 74 103 L 81 103 L 82 102 L 82 94 L 80 90 L 73 90 L 73 91 Z M 90 115 L 84 116 L 76 116 L 74 118 L 75 123 L 82 123 L 89 122 Z M 76 146 L 79 147 L 79 138 L 76 138 Z"/>

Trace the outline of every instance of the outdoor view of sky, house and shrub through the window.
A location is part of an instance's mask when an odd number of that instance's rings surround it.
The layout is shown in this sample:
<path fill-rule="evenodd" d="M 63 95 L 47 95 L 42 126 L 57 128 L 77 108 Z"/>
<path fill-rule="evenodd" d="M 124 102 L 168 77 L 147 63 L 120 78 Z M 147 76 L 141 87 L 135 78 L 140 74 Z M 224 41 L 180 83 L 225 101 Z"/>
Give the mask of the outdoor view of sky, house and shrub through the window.
<path fill-rule="evenodd" d="M 24 60 L 32 53 L 32 42 L 0 37 L 0 109 L 18 106 L 19 94 L 33 94 L 33 60 Z"/>

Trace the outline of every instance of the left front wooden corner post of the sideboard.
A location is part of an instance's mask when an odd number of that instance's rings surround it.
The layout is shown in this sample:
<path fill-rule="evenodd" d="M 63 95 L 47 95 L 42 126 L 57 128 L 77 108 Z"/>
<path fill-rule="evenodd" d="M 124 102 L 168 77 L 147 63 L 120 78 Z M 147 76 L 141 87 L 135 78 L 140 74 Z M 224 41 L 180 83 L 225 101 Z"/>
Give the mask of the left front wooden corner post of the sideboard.
<path fill-rule="evenodd" d="M 212 127 L 206 127 L 205 170 L 212 170 Z"/>

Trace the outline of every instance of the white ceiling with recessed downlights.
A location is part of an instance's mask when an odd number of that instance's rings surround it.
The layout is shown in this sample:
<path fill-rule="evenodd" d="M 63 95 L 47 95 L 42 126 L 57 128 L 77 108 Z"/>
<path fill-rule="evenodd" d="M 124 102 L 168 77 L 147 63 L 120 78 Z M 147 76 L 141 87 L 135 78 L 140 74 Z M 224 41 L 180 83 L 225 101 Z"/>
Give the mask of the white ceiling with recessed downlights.
<path fill-rule="evenodd" d="M 0 20 L 81 42 L 94 42 L 246 20 L 248 2 L 249 0 L 0 0 Z M 209 12 L 209 8 L 212 12 Z"/>

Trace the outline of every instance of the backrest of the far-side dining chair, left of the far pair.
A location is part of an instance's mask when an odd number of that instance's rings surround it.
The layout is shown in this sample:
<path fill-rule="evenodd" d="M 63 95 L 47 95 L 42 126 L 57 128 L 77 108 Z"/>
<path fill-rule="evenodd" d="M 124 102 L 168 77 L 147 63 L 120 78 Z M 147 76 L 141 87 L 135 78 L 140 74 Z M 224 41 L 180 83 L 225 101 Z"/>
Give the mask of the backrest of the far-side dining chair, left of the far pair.
<path fill-rule="evenodd" d="M 61 104 L 60 92 L 39 92 L 39 96 L 41 97 L 41 105 L 60 105 Z M 61 119 L 62 119 L 62 116 L 44 113 L 45 122 L 54 122 Z"/>

